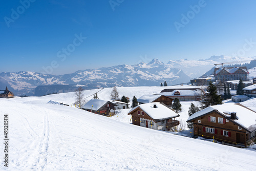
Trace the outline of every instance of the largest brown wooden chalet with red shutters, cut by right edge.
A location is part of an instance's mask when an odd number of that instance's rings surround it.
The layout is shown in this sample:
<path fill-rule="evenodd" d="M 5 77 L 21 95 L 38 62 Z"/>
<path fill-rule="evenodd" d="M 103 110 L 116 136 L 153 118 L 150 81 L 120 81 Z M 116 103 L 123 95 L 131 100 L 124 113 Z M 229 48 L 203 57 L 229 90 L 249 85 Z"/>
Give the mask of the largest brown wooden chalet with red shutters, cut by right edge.
<path fill-rule="evenodd" d="M 239 103 L 210 106 L 187 122 L 194 123 L 194 136 L 245 146 L 255 141 L 256 113 Z"/>

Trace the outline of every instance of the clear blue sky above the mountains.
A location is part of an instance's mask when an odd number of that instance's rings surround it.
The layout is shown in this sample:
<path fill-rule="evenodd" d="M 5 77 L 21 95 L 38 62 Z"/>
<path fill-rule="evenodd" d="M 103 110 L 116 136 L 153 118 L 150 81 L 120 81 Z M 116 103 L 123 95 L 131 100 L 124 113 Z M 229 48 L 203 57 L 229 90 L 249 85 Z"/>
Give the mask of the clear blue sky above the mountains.
<path fill-rule="evenodd" d="M 255 7 L 253 0 L 3 0 L 0 72 L 255 56 Z"/>

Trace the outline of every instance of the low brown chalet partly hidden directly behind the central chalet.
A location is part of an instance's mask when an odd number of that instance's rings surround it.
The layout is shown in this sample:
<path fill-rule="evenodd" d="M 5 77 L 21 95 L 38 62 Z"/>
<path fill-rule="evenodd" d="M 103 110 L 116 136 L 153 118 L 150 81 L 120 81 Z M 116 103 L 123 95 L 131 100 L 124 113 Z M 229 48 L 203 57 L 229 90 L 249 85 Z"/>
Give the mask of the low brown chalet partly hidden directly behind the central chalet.
<path fill-rule="evenodd" d="M 160 103 L 164 103 L 167 106 L 172 106 L 173 100 L 174 99 L 170 97 L 159 95 L 159 94 L 145 94 L 137 99 L 139 104 L 160 102 Z"/>

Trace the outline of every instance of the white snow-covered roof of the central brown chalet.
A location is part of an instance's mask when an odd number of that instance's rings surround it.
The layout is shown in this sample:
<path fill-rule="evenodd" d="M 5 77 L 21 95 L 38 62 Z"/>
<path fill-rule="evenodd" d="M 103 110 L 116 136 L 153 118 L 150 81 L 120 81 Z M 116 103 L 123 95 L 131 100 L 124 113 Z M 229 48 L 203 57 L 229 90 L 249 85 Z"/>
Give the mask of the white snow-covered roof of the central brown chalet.
<path fill-rule="evenodd" d="M 154 104 L 157 105 L 157 108 L 154 108 Z M 137 108 L 142 109 L 148 116 L 150 116 L 155 121 L 166 120 L 180 116 L 179 114 L 168 108 L 166 105 L 161 104 L 160 102 L 144 103 L 137 105 L 129 112 L 129 114 Z"/>

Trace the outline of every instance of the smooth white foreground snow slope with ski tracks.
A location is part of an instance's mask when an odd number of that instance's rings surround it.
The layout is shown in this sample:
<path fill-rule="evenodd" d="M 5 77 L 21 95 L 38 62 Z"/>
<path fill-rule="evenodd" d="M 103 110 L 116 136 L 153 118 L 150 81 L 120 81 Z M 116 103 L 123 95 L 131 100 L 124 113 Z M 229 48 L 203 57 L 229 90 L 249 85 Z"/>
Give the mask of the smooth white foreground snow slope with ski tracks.
<path fill-rule="evenodd" d="M 256 166 L 254 151 L 33 98 L 0 99 L 0 115 L 9 116 L 9 170 L 254 170 Z M 65 99 L 56 101 L 61 100 Z M 4 156 L 3 150 L 0 155 Z M 1 164 L 0 170 L 5 169 Z"/>

